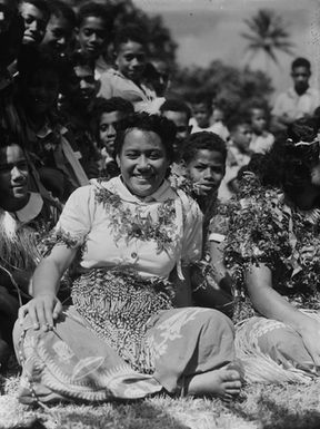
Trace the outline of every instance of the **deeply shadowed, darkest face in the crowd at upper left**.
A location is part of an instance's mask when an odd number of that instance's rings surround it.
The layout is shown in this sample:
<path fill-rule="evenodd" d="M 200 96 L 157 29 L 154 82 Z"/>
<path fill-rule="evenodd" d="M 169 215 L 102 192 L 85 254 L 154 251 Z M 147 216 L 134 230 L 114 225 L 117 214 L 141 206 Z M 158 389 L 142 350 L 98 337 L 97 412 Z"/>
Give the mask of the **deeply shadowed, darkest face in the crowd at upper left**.
<path fill-rule="evenodd" d="M 40 69 L 32 75 L 24 88 L 27 107 L 38 114 L 50 110 L 58 99 L 59 78 L 54 70 Z"/>

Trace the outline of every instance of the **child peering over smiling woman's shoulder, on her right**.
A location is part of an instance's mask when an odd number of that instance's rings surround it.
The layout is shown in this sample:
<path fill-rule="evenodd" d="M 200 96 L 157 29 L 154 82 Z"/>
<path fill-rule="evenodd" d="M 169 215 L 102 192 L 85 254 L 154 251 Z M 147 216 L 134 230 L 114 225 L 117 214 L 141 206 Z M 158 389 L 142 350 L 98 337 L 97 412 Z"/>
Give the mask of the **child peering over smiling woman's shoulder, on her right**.
<path fill-rule="evenodd" d="M 231 277 L 223 263 L 223 235 L 211 233 L 221 222 L 218 189 L 226 172 L 227 147 L 214 133 L 191 134 L 183 145 L 182 163 L 172 168 L 172 184 L 184 188 L 203 213 L 203 256 L 193 265 L 193 300 L 197 305 L 210 306 L 232 316 Z M 201 286 L 200 286 L 201 285 Z"/>

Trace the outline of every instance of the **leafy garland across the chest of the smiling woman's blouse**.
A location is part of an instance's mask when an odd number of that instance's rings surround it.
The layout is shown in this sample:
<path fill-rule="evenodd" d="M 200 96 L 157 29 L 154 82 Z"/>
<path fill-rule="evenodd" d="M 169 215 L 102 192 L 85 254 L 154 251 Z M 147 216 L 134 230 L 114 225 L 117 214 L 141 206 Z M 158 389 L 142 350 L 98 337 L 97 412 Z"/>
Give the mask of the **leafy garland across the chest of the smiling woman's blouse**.
<path fill-rule="evenodd" d="M 169 252 L 174 248 L 179 238 L 177 233 L 176 207 L 173 199 L 167 199 L 157 208 L 157 221 L 150 212 L 144 215 L 142 207 L 133 211 L 126 207 L 121 197 L 104 187 L 94 189 L 96 199 L 102 204 L 109 214 L 110 226 L 114 234 L 114 242 L 120 238 L 128 244 L 137 238 L 143 242 L 153 240 L 157 243 L 157 253 Z"/>

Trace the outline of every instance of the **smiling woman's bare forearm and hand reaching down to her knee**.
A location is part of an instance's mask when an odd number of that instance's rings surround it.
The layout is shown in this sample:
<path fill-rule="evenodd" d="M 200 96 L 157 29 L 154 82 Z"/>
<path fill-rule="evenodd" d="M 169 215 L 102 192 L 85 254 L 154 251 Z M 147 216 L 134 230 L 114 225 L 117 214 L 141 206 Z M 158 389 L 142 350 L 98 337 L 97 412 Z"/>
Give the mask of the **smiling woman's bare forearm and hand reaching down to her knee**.
<path fill-rule="evenodd" d="M 34 329 L 44 331 L 53 328 L 53 320 L 62 310 L 62 304 L 57 298 L 59 282 L 64 271 L 74 259 L 77 248 L 67 245 L 56 245 L 50 255 L 43 259 L 34 271 L 32 277 L 32 295 L 28 304 L 19 310 L 20 323 L 27 313 Z"/>

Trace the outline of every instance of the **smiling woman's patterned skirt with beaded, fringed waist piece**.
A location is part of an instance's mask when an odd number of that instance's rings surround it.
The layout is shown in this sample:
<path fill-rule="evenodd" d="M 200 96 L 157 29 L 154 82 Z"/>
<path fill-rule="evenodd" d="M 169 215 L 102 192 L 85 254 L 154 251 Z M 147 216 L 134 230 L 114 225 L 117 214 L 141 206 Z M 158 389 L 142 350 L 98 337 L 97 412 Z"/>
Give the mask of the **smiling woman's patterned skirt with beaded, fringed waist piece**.
<path fill-rule="evenodd" d="M 28 315 L 16 324 L 24 403 L 179 394 L 186 378 L 234 360 L 231 321 L 216 310 L 173 309 L 157 279 L 92 270 L 74 282 L 72 299 L 52 331 L 33 330 Z"/>

